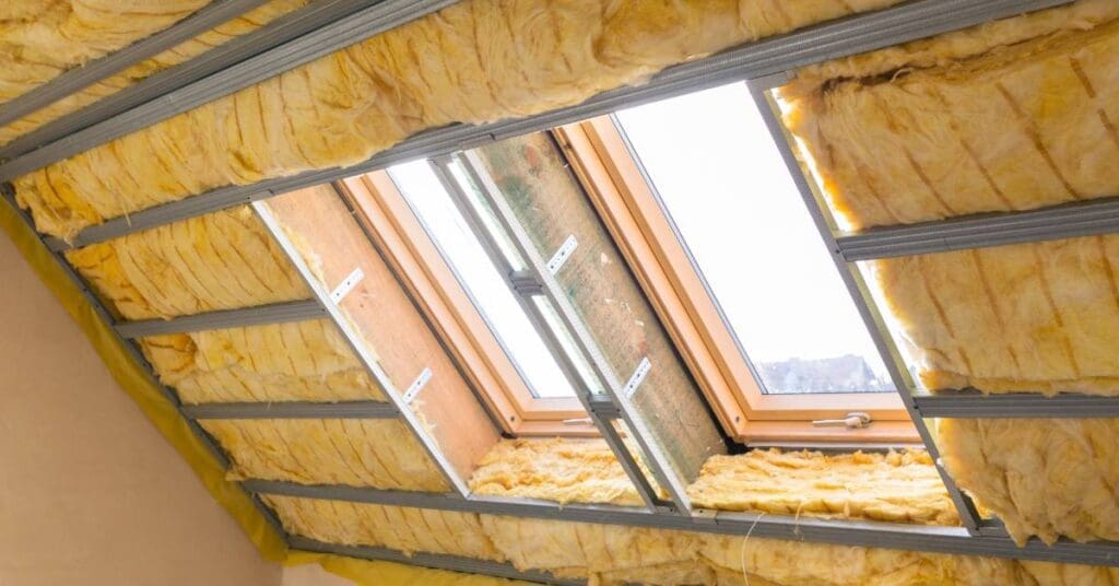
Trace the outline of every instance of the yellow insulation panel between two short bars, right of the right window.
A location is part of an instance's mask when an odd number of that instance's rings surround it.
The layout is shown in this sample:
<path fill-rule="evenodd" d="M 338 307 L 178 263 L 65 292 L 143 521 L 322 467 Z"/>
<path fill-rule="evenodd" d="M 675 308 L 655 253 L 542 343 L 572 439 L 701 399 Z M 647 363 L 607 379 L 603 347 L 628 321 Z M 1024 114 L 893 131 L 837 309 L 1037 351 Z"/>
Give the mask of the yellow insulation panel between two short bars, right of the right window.
<path fill-rule="evenodd" d="M 925 388 L 1119 394 L 1119 236 L 871 266 Z"/>

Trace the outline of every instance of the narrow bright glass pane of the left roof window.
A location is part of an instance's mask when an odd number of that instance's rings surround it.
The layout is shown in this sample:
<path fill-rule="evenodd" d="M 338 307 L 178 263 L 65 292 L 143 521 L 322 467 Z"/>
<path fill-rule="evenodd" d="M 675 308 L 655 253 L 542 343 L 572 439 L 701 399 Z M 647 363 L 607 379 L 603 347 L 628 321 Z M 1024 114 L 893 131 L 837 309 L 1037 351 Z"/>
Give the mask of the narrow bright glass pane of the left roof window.
<path fill-rule="evenodd" d="M 574 397 L 575 391 L 556 360 L 427 161 L 397 165 L 389 169 L 389 176 L 490 324 L 533 394 Z"/>

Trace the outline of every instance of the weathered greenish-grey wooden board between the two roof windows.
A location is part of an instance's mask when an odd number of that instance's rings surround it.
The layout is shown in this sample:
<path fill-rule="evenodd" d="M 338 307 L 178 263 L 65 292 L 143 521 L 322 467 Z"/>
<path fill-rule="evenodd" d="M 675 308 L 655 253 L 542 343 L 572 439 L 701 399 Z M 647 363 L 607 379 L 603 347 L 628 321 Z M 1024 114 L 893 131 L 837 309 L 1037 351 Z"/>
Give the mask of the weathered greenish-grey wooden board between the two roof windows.
<path fill-rule="evenodd" d="M 633 403 L 678 475 L 695 480 L 709 456 L 726 450 L 722 434 L 558 147 L 537 133 L 477 152 L 543 259 L 575 236 L 556 279 L 621 383 L 649 359 Z"/>

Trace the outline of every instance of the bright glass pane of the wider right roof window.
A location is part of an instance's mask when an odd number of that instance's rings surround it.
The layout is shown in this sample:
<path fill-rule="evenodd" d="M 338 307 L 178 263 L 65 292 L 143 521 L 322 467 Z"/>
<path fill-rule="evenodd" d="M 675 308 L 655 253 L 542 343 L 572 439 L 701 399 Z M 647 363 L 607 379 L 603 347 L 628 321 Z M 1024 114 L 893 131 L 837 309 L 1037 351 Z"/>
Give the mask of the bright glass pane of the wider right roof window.
<path fill-rule="evenodd" d="M 767 392 L 893 390 L 745 84 L 618 118 Z"/>

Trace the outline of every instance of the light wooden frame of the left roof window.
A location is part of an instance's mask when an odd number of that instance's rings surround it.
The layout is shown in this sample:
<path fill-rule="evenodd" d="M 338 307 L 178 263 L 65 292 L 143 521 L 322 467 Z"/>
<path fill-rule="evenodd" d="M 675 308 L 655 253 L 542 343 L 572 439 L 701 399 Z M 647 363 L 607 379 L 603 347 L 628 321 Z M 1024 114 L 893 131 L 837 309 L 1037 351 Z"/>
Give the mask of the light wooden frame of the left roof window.
<path fill-rule="evenodd" d="M 579 399 L 533 397 L 386 171 L 342 179 L 336 187 L 505 432 L 598 435 L 584 422 L 586 411 Z"/>

